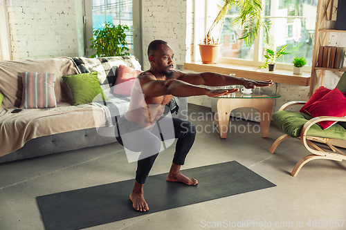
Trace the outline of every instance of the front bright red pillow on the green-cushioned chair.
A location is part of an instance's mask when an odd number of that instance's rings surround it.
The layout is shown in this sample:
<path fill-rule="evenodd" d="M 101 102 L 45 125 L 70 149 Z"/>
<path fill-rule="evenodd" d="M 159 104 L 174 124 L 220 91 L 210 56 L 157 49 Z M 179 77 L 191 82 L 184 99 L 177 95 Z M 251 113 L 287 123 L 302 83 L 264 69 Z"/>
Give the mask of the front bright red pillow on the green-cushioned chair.
<path fill-rule="evenodd" d="M 346 98 L 338 88 L 334 88 L 325 96 L 320 98 L 317 102 L 305 108 L 307 113 L 312 117 L 332 116 L 332 117 L 345 117 L 346 116 Z M 318 122 L 323 129 L 327 129 L 336 122 L 326 121 Z"/>

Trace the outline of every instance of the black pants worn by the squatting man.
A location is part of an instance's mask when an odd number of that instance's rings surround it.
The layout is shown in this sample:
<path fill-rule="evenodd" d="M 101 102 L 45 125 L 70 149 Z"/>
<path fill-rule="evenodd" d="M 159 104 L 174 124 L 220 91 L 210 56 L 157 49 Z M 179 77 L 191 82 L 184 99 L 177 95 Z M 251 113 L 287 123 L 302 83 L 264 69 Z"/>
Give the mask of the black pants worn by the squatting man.
<path fill-rule="evenodd" d="M 173 163 L 183 165 L 196 137 L 194 124 L 179 118 L 161 117 L 149 130 L 129 122 L 125 117 L 120 117 L 117 124 L 120 135 L 116 131 L 116 140 L 130 151 L 141 152 L 136 171 L 136 181 L 139 184 L 145 183 L 160 152 L 161 140 L 178 138 Z"/>

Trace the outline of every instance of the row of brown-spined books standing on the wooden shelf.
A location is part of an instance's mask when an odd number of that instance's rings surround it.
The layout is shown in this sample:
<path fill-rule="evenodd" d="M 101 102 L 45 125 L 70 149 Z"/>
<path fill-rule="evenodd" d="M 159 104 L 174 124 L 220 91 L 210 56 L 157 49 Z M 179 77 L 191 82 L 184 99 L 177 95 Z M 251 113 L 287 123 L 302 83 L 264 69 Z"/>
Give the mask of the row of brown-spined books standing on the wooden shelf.
<path fill-rule="evenodd" d="M 317 66 L 323 68 L 343 68 L 345 47 L 320 46 L 318 49 Z"/>

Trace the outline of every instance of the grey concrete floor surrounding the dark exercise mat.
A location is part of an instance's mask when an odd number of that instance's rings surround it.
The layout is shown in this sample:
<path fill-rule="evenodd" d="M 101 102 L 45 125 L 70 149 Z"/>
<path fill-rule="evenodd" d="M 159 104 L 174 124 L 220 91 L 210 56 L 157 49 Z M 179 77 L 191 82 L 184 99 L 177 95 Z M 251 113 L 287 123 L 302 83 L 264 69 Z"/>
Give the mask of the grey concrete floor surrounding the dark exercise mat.
<path fill-rule="evenodd" d="M 88 229 L 346 229 L 345 162 L 311 161 L 293 178 L 309 152 L 289 139 L 269 153 L 284 134 L 275 124 L 262 138 L 259 123 L 231 120 L 222 140 L 211 112 L 189 113 L 198 134 L 182 169 L 236 160 L 277 186 Z M 151 175 L 167 173 L 173 153 L 173 146 L 161 152 Z M 0 164 L 0 229 L 44 229 L 37 196 L 134 179 L 135 171 L 118 143 Z"/>

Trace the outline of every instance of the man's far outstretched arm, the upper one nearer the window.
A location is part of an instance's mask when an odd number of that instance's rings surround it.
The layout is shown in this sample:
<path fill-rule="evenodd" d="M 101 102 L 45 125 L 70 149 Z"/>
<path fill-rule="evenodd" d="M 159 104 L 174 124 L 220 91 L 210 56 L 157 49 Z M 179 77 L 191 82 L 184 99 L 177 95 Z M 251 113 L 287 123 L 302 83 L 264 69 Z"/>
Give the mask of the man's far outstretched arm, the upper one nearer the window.
<path fill-rule="evenodd" d="M 204 86 L 230 86 L 230 85 L 243 85 L 245 88 L 255 88 L 262 86 L 270 86 L 273 81 L 255 81 L 251 79 L 233 77 L 229 75 L 222 75 L 219 73 L 183 73 L 181 71 L 176 71 L 179 73 L 178 79 L 183 82 L 188 82 L 194 85 L 204 85 Z"/>

